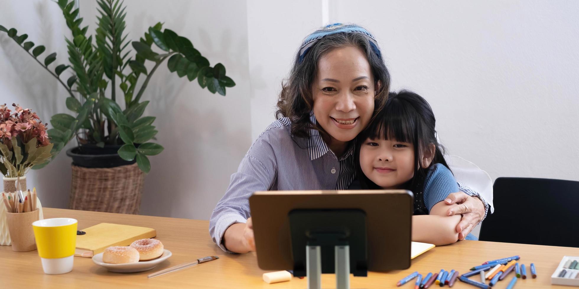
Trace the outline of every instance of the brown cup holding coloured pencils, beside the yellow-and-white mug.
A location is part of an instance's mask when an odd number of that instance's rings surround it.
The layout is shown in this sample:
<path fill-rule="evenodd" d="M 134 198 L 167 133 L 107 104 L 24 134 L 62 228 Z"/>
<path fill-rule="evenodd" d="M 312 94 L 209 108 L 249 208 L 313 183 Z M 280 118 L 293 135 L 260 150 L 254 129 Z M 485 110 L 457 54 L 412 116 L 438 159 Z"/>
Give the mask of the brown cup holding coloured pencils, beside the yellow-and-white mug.
<path fill-rule="evenodd" d="M 36 250 L 32 223 L 39 220 L 38 209 L 28 213 L 6 212 L 6 223 L 12 240 L 12 251 L 27 252 Z"/>

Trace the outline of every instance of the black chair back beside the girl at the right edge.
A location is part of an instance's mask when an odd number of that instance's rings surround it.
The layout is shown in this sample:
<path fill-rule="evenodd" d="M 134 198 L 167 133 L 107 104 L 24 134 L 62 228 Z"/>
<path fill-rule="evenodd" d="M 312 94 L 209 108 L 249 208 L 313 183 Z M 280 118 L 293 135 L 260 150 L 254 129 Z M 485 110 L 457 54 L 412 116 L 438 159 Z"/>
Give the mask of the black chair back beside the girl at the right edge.
<path fill-rule="evenodd" d="M 579 247 L 579 181 L 499 177 L 479 240 Z"/>

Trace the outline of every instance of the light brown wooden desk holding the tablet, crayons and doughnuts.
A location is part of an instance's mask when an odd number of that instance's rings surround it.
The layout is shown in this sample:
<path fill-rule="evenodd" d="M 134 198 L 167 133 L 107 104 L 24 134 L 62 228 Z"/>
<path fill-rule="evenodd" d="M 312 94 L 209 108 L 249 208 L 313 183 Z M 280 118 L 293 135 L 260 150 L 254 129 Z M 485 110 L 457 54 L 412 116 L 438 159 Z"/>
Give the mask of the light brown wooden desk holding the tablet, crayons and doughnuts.
<path fill-rule="evenodd" d="M 173 252 L 173 257 L 157 268 L 140 273 L 112 273 L 93 263 L 90 258 L 75 257 L 72 272 L 63 275 L 46 275 L 38 253 L 14 252 L 10 246 L 0 246 L 0 287 L 2 288 L 306 288 L 306 280 L 293 278 L 289 282 L 267 284 L 262 280 L 262 271 L 258 268 L 255 254 L 231 255 L 224 253 L 211 241 L 208 233 L 208 221 L 135 216 L 86 212 L 63 209 L 44 209 L 45 218 L 71 217 L 78 220 L 79 228 L 86 228 L 98 223 L 117 223 L 152 227 L 157 229 L 157 239 L 166 249 Z M 191 262 L 207 255 L 218 255 L 219 260 L 207 262 L 147 279 L 146 275 L 160 269 L 184 262 Z M 411 272 L 419 271 L 438 273 L 441 269 L 456 269 L 460 273 L 468 271 L 482 262 L 521 255 L 521 261 L 527 265 L 534 262 L 537 268 L 537 279 L 519 279 L 515 288 L 548 288 L 551 287 L 551 274 L 563 255 L 579 256 L 579 248 L 534 246 L 526 244 L 494 243 L 480 241 L 461 241 L 450 246 L 435 247 L 412 261 L 410 269 L 388 273 L 369 272 L 368 277 L 351 277 L 351 288 L 390 288 L 398 280 Z M 495 288 L 505 288 L 507 279 L 500 281 Z M 529 277 L 530 278 L 530 277 Z M 471 277 L 478 280 L 479 277 Z M 401 288 L 414 288 L 413 282 Z M 334 275 L 323 275 L 324 288 L 335 288 Z M 562 287 L 562 286 L 553 286 Z M 431 287 L 437 288 L 437 287 Z M 448 288 L 448 287 L 446 287 Z M 475 288 L 457 281 L 453 288 Z M 568 287 L 569 288 L 569 287 Z"/>

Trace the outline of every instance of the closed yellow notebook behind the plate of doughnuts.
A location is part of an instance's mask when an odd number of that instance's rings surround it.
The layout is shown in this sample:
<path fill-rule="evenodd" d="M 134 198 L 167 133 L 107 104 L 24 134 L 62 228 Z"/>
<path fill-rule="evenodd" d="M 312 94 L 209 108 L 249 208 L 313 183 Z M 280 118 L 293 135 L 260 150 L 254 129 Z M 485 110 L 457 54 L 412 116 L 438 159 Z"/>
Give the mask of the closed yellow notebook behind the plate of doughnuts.
<path fill-rule="evenodd" d="M 100 223 L 83 229 L 85 235 L 76 236 L 75 256 L 93 257 L 110 246 L 129 246 L 134 240 L 155 238 L 152 228 Z"/>

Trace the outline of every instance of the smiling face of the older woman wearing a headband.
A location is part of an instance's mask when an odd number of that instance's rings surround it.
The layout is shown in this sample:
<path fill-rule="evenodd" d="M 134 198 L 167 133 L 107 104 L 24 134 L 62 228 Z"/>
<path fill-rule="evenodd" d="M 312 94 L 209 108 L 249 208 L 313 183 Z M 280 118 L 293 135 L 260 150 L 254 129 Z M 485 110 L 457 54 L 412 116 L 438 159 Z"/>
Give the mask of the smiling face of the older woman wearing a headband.
<path fill-rule="evenodd" d="M 372 70 L 361 49 L 339 47 L 320 58 L 312 85 L 314 115 L 332 144 L 349 142 L 366 127 L 374 91 Z"/>

